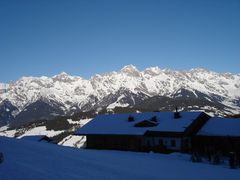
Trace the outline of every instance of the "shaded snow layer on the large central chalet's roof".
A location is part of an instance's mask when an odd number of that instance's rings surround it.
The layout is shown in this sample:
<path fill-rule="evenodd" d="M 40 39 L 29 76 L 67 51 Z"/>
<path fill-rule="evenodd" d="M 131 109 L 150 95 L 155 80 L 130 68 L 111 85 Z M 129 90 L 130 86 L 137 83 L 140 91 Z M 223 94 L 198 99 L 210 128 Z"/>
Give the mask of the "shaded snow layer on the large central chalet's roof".
<path fill-rule="evenodd" d="M 75 134 L 122 134 L 143 135 L 149 131 L 184 132 L 185 129 L 201 114 L 201 112 L 180 112 L 181 118 L 174 119 L 174 112 L 146 112 L 99 115 Z M 134 121 L 129 122 L 128 117 L 133 116 Z M 154 127 L 134 127 L 136 123 L 151 120 L 156 116 L 158 125 Z"/>

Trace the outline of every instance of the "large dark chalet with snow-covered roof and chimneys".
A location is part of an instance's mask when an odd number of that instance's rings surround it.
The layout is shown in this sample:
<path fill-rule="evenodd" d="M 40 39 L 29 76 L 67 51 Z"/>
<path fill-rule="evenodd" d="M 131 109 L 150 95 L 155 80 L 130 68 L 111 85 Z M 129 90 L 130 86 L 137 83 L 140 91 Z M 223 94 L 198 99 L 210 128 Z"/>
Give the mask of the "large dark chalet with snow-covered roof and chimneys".
<path fill-rule="evenodd" d="M 99 115 L 76 131 L 86 148 L 171 152 L 191 150 L 191 138 L 210 119 L 203 112 Z"/>

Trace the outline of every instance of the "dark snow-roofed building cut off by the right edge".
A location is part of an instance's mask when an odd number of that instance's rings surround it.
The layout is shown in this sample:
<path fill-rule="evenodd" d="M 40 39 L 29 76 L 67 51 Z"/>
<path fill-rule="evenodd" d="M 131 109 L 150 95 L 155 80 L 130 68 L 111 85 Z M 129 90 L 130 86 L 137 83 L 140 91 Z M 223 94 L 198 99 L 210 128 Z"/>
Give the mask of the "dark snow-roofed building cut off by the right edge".
<path fill-rule="evenodd" d="M 203 154 L 240 152 L 240 118 L 211 118 L 192 138 L 194 151 Z"/>

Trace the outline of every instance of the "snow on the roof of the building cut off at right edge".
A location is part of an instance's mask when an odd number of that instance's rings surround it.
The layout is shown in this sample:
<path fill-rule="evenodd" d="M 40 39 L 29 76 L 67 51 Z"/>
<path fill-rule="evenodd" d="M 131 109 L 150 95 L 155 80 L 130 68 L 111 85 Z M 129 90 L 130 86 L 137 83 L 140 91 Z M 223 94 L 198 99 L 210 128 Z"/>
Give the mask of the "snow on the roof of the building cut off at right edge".
<path fill-rule="evenodd" d="M 211 118 L 197 133 L 205 136 L 240 136 L 240 118 Z"/>

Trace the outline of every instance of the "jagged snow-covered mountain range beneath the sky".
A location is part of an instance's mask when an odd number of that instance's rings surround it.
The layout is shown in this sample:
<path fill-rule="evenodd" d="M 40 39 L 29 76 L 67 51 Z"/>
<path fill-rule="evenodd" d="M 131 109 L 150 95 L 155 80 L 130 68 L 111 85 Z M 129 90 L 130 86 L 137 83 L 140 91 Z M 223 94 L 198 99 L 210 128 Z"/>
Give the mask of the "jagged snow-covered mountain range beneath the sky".
<path fill-rule="evenodd" d="M 22 77 L 0 83 L 0 125 L 51 119 L 86 111 L 205 110 L 240 111 L 240 74 L 205 69 L 139 71 L 128 65 L 89 80 L 64 72 L 53 77 Z"/>

